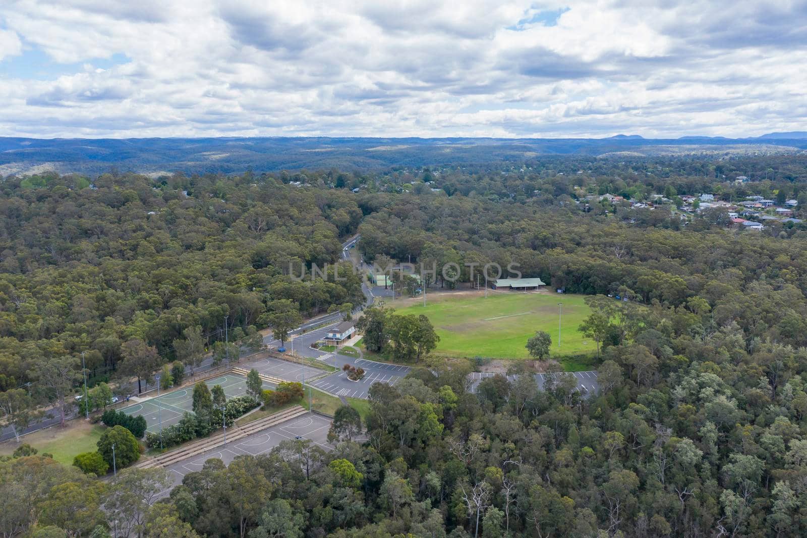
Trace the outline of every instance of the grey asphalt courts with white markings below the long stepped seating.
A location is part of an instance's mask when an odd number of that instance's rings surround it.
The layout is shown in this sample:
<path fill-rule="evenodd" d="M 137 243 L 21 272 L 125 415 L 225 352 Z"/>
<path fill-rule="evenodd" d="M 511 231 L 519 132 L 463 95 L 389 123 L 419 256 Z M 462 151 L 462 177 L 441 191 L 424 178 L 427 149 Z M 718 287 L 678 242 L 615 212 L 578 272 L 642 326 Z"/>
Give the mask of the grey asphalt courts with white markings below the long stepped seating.
<path fill-rule="evenodd" d="M 319 414 L 304 414 L 277 426 L 261 430 L 244 439 L 238 439 L 234 443 L 211 448 L 210 451 L 198 456 L 191 456 L 187 460 L 170 465 L 168 469 L 174 477 L 174 485 L 179 485 L 186 474 L 202 470 L 205 461 L 211 458 L 219 458 L 227 465 L 238 456 L 259 456 L 270 452 L 282 441 L 288 439 L 296 439 L 297 437 L 311 439 L 322 448 L 330 450 L 332 448 L 328 444 L 328 428 L 330 427 L 331 420 L 329 418 Z M 174 485 L 171 486 L 171 489 L 174 488 Z M 169 491 L 164 493 L 168 494 Z"/>

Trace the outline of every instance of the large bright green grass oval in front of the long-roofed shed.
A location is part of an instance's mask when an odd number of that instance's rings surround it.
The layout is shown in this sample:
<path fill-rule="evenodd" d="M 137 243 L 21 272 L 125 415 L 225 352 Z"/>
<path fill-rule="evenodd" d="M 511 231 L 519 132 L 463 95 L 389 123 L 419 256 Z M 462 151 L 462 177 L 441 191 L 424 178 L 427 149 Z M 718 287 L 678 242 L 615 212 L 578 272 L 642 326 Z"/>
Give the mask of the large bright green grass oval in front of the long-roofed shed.
<path fill-rule="evenodd" d="M 427 305 L 407 301 L 406 308 L 387 302 L 399 314 L 425 314 L 440 343 L 437 355 L 525 359 L 525 344 L 537 330 L 552 337 L 550 355 L 595 352 L 596 343 L 577 330 L 590 310 L 583 295 L 554 293 L 484 292 L 463 295 L 434 294 Z M 397 302 L 397 301 L 396 301 Z M 401 301 L 403 302 L 403 301 Z M 558 302 L 562 307 L 561 345 L 558 348 Z"/>

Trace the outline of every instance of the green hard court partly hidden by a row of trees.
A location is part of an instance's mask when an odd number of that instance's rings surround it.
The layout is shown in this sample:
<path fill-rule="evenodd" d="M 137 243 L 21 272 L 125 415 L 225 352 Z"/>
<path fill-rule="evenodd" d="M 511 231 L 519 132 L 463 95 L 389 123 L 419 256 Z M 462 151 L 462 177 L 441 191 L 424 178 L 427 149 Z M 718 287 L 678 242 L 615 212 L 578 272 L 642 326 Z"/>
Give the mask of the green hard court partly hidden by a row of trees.
<path fill-rule="evenodd" d="M 215 385 L 221 385 L 221 388 L 224 389 L 224 394 L 228 398 L 240 396 L 247 392 L 247 378 L 234 373 L 206 380 L 205 383 L 211 389 Z M 264 382 L 263 388 L 274 389 L 274 385 Z M 141 401 L 133 406 L 124 407 L 122 411 L 125 414 L 142 415 L 146 419 L 146 424 L 148 424 L 146 431 L 157 433 L 160 430 L 159 424 L 161 420 L 162 427 L 165 428 L 179 422 L 183 414 L 193 412 L 193 393 L 194 388 L 192 386 L 186 389 L 174 390 L 161 394 L 159 397 Z"/>

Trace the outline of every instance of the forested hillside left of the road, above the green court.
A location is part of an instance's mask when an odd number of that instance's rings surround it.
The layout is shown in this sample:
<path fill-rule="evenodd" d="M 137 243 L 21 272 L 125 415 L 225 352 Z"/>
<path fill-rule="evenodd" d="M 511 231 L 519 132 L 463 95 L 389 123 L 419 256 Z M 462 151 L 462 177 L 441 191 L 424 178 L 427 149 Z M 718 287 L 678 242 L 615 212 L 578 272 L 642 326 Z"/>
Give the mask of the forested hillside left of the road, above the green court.
<path fill-rule="evenodd" d="M 349 281 L 311 285 L 288 276 L 290 263 L 338 260 L 339 237 L 362 216 L 349 193 L 249 176 L 43 183 L 2 183 L 2 389 L 82 351 L 90 370 L 113 374 L 131 340 L 174 358 L 186 331 L 213 343 L 224 338 L 226 316 L 231 333 L 245 334 L 266 326 L 261 315 L 282 301 L 307 315 L 361 301 L 360 279 L 349 271 Z"/>

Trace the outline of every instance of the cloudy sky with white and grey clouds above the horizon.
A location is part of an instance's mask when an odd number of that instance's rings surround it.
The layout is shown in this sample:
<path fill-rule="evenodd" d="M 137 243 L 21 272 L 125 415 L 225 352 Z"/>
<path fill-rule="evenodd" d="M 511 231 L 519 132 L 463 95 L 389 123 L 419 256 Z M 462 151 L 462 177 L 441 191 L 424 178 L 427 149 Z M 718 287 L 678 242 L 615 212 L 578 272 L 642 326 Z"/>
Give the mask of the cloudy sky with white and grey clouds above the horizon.
<path fill-rule="evenodd" d="M 805 66 L 805 0 L 3 0 L 0 136 L 756 136 Z"/>

